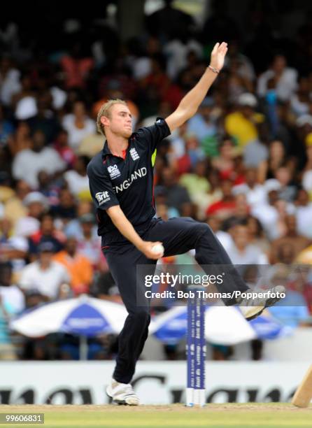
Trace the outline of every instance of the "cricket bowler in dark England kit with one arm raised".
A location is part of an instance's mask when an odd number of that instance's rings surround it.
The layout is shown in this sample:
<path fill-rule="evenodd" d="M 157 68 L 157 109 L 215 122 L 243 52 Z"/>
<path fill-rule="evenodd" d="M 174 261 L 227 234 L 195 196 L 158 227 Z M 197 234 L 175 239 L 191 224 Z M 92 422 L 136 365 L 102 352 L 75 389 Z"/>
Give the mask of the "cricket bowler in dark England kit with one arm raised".
<path fill-rule="evenodd" d="M 137 304 L 138 293 L 143 296 L 146 290 L 136 278 L 136 266 L 145 264 L 155 269 L 162 252 L 155 253 L 153 246 L 160 243 L 164 246 L 164 256 L 194 249 L 195 259 L 201 265 L 231 265 L 208 224 L 190 217 L 168 221 L 155 218 L 153 197 L 153 159 L 157 144 L 197 112 L 222 69 L 226 53 L 227 43 L 216 43 L 211 63 L 197 85 L 169 117 L 158 117 L 151 127 L 133 132 L 132 115 L 125 101 L 107 101 L 99 110 L 97 127 L 106 141 L 103 150 L 87 166 L 87 175 L 97 208 L 102 250 L 129 313 L 118 339 L 113 378 L 106 389 L 117 404 L 139 404 L 130 382 L 148 337 L 150 313 L 148 302 Z M 241 292 L 248 290 L 234 268 L 232 274 L 230 284 L 220 285 L 218 290 L 227 291 L 229 287 Z M 254 318 L 275 301 L 262 300 L 257 306 L 243 301 L 247 306 L 246 318 Z M 236 303 L 233 299 L 226 301 L 226 304 Z"/>

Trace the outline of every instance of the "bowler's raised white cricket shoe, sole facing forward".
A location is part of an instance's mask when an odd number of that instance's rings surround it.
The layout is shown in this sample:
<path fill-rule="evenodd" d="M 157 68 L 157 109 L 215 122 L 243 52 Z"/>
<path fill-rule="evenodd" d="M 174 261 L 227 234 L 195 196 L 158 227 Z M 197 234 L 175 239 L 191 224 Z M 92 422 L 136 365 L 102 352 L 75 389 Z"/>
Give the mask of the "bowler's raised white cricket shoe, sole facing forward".
<path fill-rule="evenodd" d="M 250 292 L 263 293 L 264 290 L 250 290 Z M 285 287 L 283 287 L 283 285 L 276 285 L 276 287 L 272 287 L 269 292 L 274 293 L 275 297 L 246 297 L 238 301 L 241 313 L 246 320 L 253 320 L 261 315 L 265 308 L 269 308 L 269 306 L 273 306 L 281 300 L 281 294 L 285 293 Z"/>

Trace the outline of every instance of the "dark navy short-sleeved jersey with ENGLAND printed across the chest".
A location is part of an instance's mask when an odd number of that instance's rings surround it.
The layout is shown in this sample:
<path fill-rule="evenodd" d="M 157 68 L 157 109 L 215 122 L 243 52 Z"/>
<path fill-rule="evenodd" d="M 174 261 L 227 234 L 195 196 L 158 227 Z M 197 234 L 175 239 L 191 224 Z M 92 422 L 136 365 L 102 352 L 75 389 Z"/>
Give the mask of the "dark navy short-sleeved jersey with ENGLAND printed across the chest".
<path fill-rule="evenodd" d="M 111 206 L 120 205 L 134 227 L 153 218 L 153 159 L 157 144 L 169 135 L 166 121 L 157 117 L 153 126 L 132 134 L 124 158 L 113 155 L 106 141 L 103 150 L 91 159 L 87 176 L 97 208 L 99 236 L 117 230 L 106 213 Z"/>

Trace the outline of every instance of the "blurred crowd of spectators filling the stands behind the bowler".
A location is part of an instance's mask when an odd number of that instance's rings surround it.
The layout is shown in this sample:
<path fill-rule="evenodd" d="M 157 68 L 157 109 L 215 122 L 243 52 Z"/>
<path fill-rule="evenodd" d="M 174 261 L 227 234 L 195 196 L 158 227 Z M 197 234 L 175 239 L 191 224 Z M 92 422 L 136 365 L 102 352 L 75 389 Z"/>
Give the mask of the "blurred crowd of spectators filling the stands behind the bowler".
<path fill-rule="evenodd" d="M 288 55 L 273 30 L 263 46 L 257 31 L 247 45 L 229 18 L 209 17 L 198 29 L 169 3 L 126 42 L 108 25 L 91 37 L 71 23 L 62 45 L 43 51 L 43 41 L 37 50 L 22 41 L 17 25 L 1 32 L 0 359 L 75 357 L 64 337 L 57 347 L 45 339 L 13 346 L 13 315 L 80 294 L 120 301 L 86 175 L 104 144 L 97 111 L 121 98 L 134 129 L 166 117 L 204 73 L 222 31 L 225 68 L 196 115 L 157 150 L 157 216 L 208 222 L 234 264 L 312 264 L 311 22 L 292 41 L 297 56 Z M 309 268 L 292 278 L 292 293 L 302 301 L 288 318 L 304 324 L 312 311 Z M 282 308 L 275 315 L 282 319 Z M 112 355 L 113 341 L 98 345 L 95 357 Z"/>

